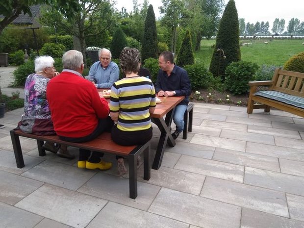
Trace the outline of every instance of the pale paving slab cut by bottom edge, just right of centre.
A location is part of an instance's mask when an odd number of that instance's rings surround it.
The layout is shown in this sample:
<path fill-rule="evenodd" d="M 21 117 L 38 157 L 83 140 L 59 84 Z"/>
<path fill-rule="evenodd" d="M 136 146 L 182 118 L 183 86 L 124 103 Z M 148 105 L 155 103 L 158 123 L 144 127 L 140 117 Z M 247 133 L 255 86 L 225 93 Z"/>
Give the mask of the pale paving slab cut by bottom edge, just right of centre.
<path fill-rule="evenodd" d="M 149 212 L 203 228 L 238 228 L 241 207 L 162 188 Z"/>

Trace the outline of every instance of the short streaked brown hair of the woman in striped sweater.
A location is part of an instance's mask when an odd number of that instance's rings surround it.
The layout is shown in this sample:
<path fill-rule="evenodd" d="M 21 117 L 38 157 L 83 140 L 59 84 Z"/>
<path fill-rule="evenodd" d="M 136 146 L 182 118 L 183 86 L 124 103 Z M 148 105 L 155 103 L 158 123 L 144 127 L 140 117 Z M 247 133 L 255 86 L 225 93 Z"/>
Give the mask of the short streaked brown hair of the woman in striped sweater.
<path fill-rule="evenodd" d="M 141 55 L 136 48 L 126 47 L 120 53 L 120 67 L 125 74 L 137 73 L 140 68 Z"/>

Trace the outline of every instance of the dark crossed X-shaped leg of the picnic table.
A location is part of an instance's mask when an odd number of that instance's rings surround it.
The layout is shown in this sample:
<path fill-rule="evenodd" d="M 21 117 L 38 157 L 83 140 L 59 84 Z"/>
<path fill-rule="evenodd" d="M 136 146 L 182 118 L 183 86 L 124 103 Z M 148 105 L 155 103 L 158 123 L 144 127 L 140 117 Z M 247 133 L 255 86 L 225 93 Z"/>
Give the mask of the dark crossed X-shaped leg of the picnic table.
<path fill-rule="evenodd" d="M 166 147 L 166 142 L 169 146 L 174 147 L 176 145 L 175 140 L 173 139 L 171 132 L 170 132 L 170 126 L 173 120 L 173 114 L 174 114 L 175 108 L 167 113 L 165 120 L 162 118 L 152 118 L 152 122 L 157 125 L 159 128 L 161 134 L 159 137 L 159 141 L 157 144 L 157 149 L 154 157 L 154 161 L 152 164 L 152 169 L 158 170 L 163 156 L 164 151 Z"/>

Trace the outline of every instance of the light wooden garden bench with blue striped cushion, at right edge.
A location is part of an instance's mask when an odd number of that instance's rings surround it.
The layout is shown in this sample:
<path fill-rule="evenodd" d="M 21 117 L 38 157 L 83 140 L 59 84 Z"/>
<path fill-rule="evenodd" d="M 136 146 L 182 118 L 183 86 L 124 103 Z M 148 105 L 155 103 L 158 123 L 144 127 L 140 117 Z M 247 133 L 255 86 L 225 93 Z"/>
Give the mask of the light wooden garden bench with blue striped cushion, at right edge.
<path fill-rule="evenodd" d="M 249 85 L 247 113 L 253 113 L 256 108 L 269 112 L 270 107 L 274 107 L 304 117 L 304 73 L 277 68 L 272 80 L 250 81 Z M 258 86 L 269 86 L 269 89 L 256 92 Z"/>

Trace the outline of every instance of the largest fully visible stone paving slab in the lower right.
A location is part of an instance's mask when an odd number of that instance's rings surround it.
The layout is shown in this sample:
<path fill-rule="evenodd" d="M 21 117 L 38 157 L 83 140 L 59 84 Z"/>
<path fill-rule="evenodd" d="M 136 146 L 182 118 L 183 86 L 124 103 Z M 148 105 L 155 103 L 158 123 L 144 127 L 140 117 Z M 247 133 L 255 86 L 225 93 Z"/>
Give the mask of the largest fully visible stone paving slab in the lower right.
<path fill-rule="evenodd" d="M 285 194 L 233 181 L 206 177 L 202 197 L 289 217 Z"/>

